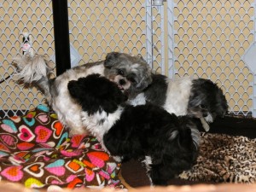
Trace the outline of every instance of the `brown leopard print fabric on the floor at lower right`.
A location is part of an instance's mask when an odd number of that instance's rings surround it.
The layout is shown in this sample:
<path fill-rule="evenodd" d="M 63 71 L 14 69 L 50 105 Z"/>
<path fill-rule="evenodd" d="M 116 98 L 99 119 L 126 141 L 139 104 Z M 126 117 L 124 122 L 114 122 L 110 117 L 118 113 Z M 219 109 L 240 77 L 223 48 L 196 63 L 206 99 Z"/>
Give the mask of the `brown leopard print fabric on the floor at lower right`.
<path fill-rule="evenodd" d="M 209 183 L 256 183 L 256 138 L 202 133 L 195 166 L 179 177 Z"/>

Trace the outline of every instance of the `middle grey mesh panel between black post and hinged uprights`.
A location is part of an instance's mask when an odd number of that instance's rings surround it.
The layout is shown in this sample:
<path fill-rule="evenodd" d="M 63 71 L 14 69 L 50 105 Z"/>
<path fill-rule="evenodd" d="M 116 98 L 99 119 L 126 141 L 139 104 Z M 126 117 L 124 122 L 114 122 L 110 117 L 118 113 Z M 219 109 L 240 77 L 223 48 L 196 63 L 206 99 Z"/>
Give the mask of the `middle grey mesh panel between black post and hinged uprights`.
<path fill-rule="evenodd" d="M 145 1 L 69 1 L 70 42 L 79 64 L 120 51 L 146 56 Z"/>

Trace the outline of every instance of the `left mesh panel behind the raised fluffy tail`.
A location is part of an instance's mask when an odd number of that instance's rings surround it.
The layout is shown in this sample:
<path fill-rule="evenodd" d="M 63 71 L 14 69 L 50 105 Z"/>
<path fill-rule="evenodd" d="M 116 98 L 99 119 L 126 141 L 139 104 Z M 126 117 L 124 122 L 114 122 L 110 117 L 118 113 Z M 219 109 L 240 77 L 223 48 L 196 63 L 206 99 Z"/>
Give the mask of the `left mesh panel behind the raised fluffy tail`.
<path fill-rule="evenodd" d="M 38 54 L 54 55 L 54 35 L 51 0 L 2 1 L 0 3 L 0 84 L 1 116 L 16 115 L 16 110 L 34 108 L 44 96 L 36 89 L 23 89 L 13 81 L 13 57 L 22 54 L 22 32 L 32 35 L 32 47 Z"/>

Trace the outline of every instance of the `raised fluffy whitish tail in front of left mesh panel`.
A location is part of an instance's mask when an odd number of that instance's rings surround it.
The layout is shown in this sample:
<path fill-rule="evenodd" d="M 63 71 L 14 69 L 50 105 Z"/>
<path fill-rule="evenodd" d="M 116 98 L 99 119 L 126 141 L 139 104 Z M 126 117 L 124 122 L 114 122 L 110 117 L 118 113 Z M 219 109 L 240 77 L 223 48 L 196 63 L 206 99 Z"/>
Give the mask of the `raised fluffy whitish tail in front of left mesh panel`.
<path fill-rule="evenodd" d="M 46 61 L 44 55 L 19 55 L 14 58 L 13 65 L 17 72 L 16 81 L 26 87 L 37 87 L 50 103 L 49 75 L 53 68 L 49 67 L 49 61 Z"/>

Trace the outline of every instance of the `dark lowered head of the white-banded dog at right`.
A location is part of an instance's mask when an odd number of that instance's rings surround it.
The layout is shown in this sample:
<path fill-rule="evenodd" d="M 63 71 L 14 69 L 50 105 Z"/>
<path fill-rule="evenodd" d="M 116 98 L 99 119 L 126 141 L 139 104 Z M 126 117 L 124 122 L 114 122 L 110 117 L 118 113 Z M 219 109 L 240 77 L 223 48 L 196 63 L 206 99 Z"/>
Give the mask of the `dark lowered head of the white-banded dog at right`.
<path fill-rule="evenodd" d="M 193 80 L 189 96 L 189 115 L 203 117 L 211 123 L 217 116 L 224 117 L 227 110 L 227 100 L 217 84 L 208 79 Z"/>

